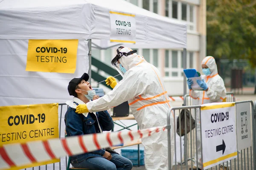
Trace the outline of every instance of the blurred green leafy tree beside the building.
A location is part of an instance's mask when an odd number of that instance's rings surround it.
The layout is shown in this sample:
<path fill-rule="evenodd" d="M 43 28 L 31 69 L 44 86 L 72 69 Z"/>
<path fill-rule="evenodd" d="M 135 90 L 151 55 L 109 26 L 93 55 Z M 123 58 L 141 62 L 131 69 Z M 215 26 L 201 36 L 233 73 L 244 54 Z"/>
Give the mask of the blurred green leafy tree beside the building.
<path fill-rule="evenodd" d="M 255 41 L 256 0 L 207 0 L 208 55 L 248 59 L 256 68 Z"/>

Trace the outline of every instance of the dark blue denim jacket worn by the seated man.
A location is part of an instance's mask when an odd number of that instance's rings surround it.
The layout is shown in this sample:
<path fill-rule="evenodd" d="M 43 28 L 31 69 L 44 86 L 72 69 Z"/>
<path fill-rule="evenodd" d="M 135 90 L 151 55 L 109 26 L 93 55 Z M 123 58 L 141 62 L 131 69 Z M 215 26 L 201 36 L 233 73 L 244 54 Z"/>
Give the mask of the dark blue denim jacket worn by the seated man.
<path fill-rule="evenodd" d="M 74 103 L 78 105 L 78 103 Z M 99 124 L 97 122 L 96 116 Z M 66 124 L 67 136 L 100 133 L 99 125 L 102 131 L 109 131 L 113 129 L 114 123 L 108 111 L 96 112 L 96 116 L 94 113 L 89 113 L 88 116 L 85 117 L 83 114 L 76 113 L 75 108 L 69 107 L 67 109 L 64 119 Z M 104 153 L 105 150 L 100 149 L 90 153 L 83 153 L 81 155 L 71 156 L 70 160 L 71 163 L 78 163 L 89 157 L 102 157 Z"/>

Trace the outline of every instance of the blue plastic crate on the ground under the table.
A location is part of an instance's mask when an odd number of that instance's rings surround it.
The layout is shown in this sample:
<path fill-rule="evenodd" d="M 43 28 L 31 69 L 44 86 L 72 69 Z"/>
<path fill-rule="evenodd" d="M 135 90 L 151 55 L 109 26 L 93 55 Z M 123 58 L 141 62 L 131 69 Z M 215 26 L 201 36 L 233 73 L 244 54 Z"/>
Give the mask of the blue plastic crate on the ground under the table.
<path fill-rule="evenodd" d="M 138 165 L 138 148 L 124 147 L 121 149 L 121 155 L 130 159 L 133 165 Z M 140 165 L 144 165 L 144 147 L 140 148 Z"/>

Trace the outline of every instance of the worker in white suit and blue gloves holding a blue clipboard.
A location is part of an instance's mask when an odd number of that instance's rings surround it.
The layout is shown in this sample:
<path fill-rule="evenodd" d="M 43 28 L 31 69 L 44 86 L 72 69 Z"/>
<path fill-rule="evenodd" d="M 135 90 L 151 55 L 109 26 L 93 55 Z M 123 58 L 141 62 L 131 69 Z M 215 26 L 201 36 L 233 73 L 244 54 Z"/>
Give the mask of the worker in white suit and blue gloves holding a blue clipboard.
<path fill-rule="evenodd" d="M 226 88 L 224 85 L 223 79 L 218 75 L 217 65 L 215 59 L 212 56 L 207 56 L 202 61 L 203 73 L 202 79 L 197 80 L 198 85 L 203 88 L 203 91 L 194 91 L 191 88 L 193 81 L 191 79 L 187 79 L 187 84 L 189 86 L 189 95 L 193 99 L 198 99 L 199 104 L 207 104 L 213 102 L 226 102 Z M 201 120 L 204 121 L 204 120 Z M 200 130 L 200 113 L 199 109 L 196 111 L 196 123 L 197 123 L 197 144 L 198 144 L 198 168 L 202 169 L 202 159 L 201 159 L 201 130 Z M 196 159 L 196 153 L 195 153 Z M 191 169 L 191 168 L 189 168 Z M 192 168 L 192 170 L 196 170 L 196 162 Z M 221 165 L 221 170 L 227 170 L 227 163 L 224 163 L 224 167 Z"/>

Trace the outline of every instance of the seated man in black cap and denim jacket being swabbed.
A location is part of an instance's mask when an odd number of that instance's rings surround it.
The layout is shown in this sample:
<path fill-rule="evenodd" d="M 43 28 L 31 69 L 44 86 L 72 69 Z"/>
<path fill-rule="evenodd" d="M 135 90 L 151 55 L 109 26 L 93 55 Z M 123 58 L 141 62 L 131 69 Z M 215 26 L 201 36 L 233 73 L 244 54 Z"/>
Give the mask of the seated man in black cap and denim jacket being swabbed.
<path fill-rule="evenodd" d="M 113 120 L 108 111 L 77 114 L 76 105 L 85 104 L 90 100 L 98 99 L 91 88 L 89 75 L 84 73 L 81 78 L 74 78 L 69 82 L 68 92 L 73 98 L 65 114 L 67 136 L 102 133 L 113 128 Z M 131 170 L 129 159 L 120 156 L 112 148 L 96 150 L 90 153 L 71 156 L 71 164 L 76 168 L 90 168 L 92 170 Z"/>

